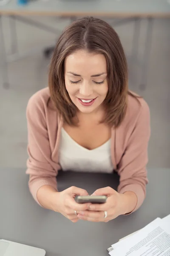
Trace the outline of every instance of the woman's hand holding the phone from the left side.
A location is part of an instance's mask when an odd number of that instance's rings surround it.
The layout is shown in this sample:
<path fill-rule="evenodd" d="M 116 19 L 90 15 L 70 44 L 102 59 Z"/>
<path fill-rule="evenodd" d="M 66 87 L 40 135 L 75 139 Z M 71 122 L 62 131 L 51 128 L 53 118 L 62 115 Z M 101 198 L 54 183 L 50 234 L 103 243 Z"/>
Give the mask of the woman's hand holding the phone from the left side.
<path fill-rule="evenodd" d="M 76 203 L 74 198 L 77 195 L 88 195 L 88 192 L 75 186 L 65 189 L 62 192 L 56 192 L 53 199 L 53 201 L 55 202 L 54 206 L 52 207 L 53 210 L 56 212 L 60 212 L 72 222 L 77 222 L 79 218 L 77 218 L 77 214 L 75 211 L 85 211 L 89 209 L 89 206 L 91 205 L 89 203 Z"/>

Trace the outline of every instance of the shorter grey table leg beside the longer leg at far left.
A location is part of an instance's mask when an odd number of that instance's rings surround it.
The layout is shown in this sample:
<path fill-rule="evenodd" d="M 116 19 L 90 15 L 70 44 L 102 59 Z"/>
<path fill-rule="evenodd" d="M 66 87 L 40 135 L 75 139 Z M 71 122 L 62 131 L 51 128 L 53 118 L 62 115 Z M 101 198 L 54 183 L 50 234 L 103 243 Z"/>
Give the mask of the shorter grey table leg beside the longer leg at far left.
<path fill-rule="evenodd" d="M 11 30 L 11 54 L 14 54 L 18 51 L 17 44 L 17 30 L 16 30 L 16 18 L 15 16 L 10 16 L 9 25 Z"/>

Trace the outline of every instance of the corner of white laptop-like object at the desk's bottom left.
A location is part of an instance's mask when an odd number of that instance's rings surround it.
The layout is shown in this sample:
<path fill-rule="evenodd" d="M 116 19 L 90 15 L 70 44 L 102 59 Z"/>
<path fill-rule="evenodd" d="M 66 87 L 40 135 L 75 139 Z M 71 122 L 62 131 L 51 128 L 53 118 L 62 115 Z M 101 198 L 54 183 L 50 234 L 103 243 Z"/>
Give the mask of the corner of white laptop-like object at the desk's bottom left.
<path fill-rule="evenodd" d="M 0 256 L 45 256 L 45 250 L 0 239 Z"/>

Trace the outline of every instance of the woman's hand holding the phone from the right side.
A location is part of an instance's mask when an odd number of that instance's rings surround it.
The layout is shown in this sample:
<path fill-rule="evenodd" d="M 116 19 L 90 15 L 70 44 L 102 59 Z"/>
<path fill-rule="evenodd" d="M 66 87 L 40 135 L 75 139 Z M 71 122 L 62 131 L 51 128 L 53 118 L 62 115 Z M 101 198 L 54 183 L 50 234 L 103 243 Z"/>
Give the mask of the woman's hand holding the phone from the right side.
<path fill-rule="evenodd" d="M 108 198 L 105 204 L 91 204 L 89 210 L 77 211 L 79 219 L 108 222 L 119 215 L 133 211 L 137 204 L 137 196 L 131 191 L 119 194 L 111 187 L 105 187 L 97 189 L 93 195 L 106 195 Z M 105 212 L 107 212 L 106 218 Z"/>

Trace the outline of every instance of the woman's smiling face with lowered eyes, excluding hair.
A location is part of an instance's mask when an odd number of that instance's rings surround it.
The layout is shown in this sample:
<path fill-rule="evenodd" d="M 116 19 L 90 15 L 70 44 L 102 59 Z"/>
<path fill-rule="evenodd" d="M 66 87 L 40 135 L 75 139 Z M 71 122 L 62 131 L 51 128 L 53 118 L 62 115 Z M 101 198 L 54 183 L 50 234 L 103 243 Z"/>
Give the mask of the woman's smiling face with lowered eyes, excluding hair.
<path fill-rule="evenodd" d="M 65 58 L 65 87 L 82 113 L 98 110 L 108 92 L 105 56 L 77 50 Z"/>

